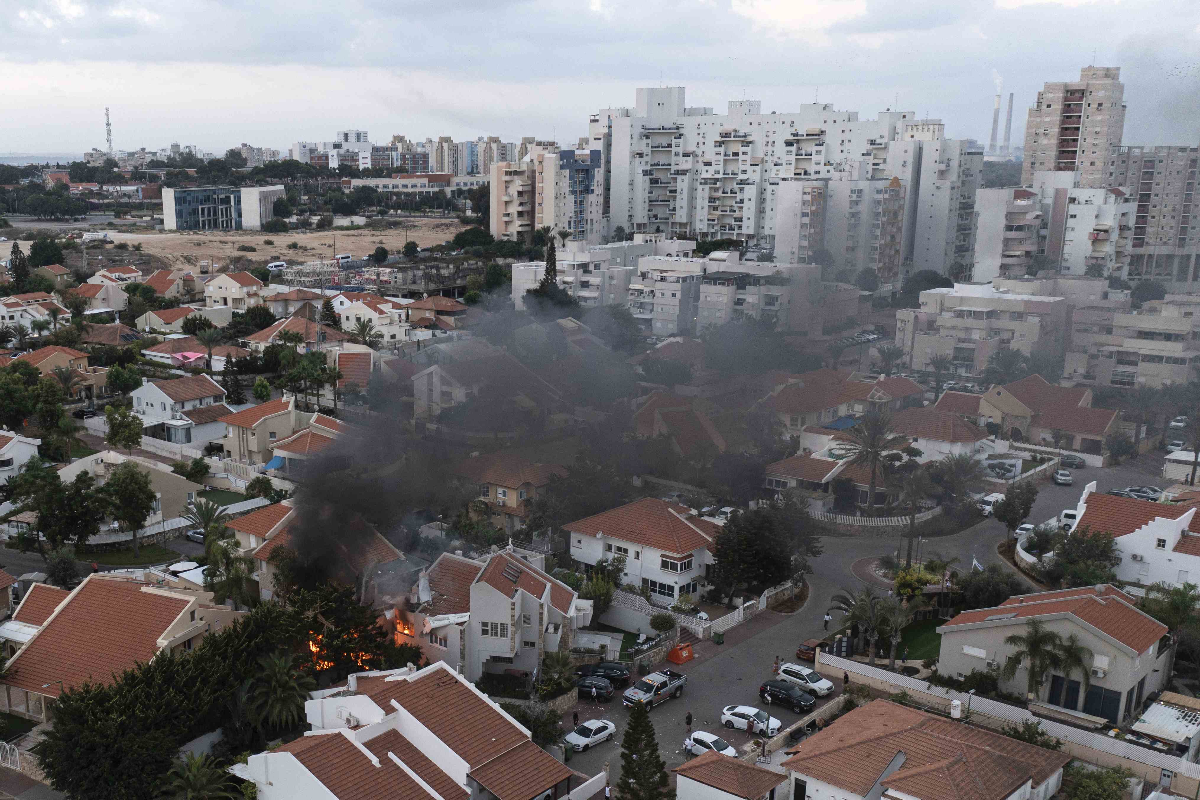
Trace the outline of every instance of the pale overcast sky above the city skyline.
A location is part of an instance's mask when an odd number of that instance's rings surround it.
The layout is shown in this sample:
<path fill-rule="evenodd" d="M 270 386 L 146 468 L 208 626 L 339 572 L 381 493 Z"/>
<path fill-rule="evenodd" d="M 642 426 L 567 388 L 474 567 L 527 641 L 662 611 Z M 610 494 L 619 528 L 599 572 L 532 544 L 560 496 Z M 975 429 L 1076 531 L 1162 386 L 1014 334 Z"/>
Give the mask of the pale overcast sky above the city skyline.
<path fill-rule="evenodd" d="M 1200 143 L 1198 0 L 10 0 L 0 153 L 103 148 L 104 106 L 118 149 L 574 142 L 660 83 L 718 112 L 818 97 L 871 118 L 899 97 L 986 142 L 997 76 L 1019 144 L 1042 84 L 1092 48 L 1121 67 L 1127 144 Z"/>

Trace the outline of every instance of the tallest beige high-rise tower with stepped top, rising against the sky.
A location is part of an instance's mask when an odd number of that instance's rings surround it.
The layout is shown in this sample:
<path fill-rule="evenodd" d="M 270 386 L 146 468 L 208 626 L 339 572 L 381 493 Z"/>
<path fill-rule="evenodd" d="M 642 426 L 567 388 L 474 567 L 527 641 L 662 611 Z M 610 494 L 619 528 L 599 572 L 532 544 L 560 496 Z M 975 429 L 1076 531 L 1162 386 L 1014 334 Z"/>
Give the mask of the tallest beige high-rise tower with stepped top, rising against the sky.
<path fill-rule="evenodd" d="M 1109 151 L 1124 132 L 1121 67 L 1084 67 L 1079 80 L 1048 83 L 1025 126 L 1021 184 L 1034 172 L 1078 172 L 1081 189 L 1108 185 Z"/>

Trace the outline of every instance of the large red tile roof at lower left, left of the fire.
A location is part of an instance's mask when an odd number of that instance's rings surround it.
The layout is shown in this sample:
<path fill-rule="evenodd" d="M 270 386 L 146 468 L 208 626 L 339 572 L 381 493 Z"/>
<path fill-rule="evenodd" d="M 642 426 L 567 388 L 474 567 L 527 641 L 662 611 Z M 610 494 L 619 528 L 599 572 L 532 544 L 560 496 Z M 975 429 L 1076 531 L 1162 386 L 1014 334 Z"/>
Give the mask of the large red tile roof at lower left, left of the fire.
<path fill-rule="evenodd" d="M 88 575 L 17 653 L 2 682 L 50 697 L 85 681 L 108 683 L 154 658 L 158 639 L 187 605 L 145 584 Z"/>

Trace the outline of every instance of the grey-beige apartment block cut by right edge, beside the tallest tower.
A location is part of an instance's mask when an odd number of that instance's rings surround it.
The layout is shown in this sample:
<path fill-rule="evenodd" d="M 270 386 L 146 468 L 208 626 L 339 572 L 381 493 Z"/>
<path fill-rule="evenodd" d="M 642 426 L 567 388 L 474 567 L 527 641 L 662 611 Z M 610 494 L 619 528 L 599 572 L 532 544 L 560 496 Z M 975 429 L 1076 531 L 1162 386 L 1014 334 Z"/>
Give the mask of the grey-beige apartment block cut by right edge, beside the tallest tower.
<path fill-rule="evenodd" d="M 1104 186 L 1124 187 L 1135 202 L 1124 277 L 1168 282 L 1177 292 L 1194 292 L 1200 280 L 1200 226 L 1195 208 L 1195 147 L 1115 147 L 1105 167 Z"/>

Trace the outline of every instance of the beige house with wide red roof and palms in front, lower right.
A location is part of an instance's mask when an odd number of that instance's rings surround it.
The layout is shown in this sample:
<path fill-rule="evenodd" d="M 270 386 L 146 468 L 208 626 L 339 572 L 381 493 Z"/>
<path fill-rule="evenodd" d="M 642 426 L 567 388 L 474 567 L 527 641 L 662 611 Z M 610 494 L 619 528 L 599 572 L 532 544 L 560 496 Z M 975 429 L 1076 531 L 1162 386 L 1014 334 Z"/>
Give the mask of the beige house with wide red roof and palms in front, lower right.
<path fill-rule="evenodd" d="M 1114 497 L 1114 500 L 1120 500 Z M 1200 538 L 1198 538 L 1200 542 Z M 937 628 L 942 635 L 937 669 L 947 676 L 1003 667 L 1020 650 L 1007 638 L 1022 635 L 1033 620 L 1064 641 L 1075 637 L 1088 655 L 1080 675 L 1052 668 L 1031 706 L 1048 717 L 1098 727 L 1122 724 L 1141 714 L 1142 699 L 1166 686 L 1171 644 L 1166 626 L 1140 610 L 1134 597 L 1104 584 L 1010 597 L 995 608 L 964 611 Z M 1028 667 L 1022 662 L 1001 688 L 1025 694 Z M 1048 709 L 1048 706 L 1054 706 Z M 1079 714 L 1085 716 L 1079 716 Z M 1088 720 L 1087 717 L 1092 717 Z"/>

